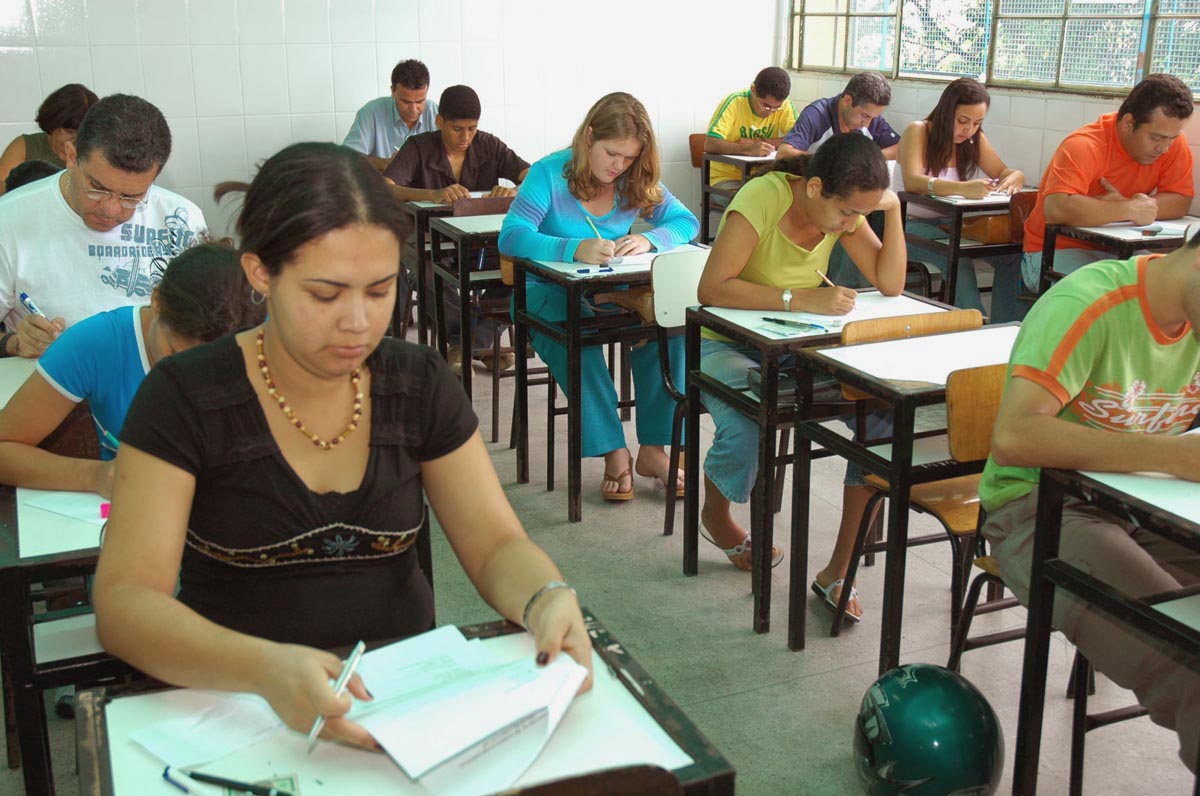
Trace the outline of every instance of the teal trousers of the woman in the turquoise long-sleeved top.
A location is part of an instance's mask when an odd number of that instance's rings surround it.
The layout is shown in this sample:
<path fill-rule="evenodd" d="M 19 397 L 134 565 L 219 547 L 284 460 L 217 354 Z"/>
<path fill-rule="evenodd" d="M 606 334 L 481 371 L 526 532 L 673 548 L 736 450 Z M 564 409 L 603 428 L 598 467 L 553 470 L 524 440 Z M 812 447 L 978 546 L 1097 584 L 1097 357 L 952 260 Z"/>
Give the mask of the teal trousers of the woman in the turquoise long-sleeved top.
<path fill-rule="evenodd" d="M 530 313 L 550 323 L 566 321 L 566 291 L 557 285 L 541 280 L 526 281 L 526 304 Z M 580 315 L 584 318 L 595 316 L 586 303 Z M 563 389 L 566 389 L 566 349 L 530 330 L 533 349 L 550 367 Z M 583 342 L 587 342 L 584 335 Z M 670 340 L 671 376 L 676 385 L 684 389 L 684 339 Z M 630 370 L 634 376 L 634 391 L 637 400 L 635 424 L 637 442 L 643 445 L 670 445 L 671 423 L 674 418 L 676 402 L 662 383 L 659 367 L 659 345 L 652 340 L 636 346 L 630 354 Z M 611 450 L 625 447 L 625 430 L 617 414 L 617 390 L 613 388 L 608 366 L 599 346 L 584 346 L 580 361 L 580 397 L 582 406 L 583 455 L 602 456 Z"/>

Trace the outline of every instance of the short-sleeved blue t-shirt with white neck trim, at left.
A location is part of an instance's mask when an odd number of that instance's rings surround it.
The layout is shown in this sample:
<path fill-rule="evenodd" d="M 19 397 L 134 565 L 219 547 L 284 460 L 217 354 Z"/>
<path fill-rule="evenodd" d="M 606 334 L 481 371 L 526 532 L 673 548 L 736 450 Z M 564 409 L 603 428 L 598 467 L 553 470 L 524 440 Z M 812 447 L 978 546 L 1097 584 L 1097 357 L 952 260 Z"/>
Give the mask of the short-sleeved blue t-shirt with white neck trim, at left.
<path fill-rule="evenodd" d="M 145 305 L 142 305 L 145 306 Z M 88 401 L 100 457 L 116 455 L 116 438 L 142 379 L 150 372 L 140 306 L 101 312 L 70 327 L 37 360 L 37 372 L 64 397 Z"/>

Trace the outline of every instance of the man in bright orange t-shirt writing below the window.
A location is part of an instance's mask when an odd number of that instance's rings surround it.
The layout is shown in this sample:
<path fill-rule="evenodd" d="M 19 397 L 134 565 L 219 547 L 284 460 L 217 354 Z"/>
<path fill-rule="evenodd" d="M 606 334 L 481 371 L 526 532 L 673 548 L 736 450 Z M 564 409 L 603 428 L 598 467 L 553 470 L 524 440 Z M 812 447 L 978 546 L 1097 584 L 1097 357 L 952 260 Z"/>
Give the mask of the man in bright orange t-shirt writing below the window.
<path fill-rule="evenodd" d="M 1038 289 L 1048 223 L 1097 227 L 1178 219 L 1188 211 L 1192 151 L 1183 126 L 1192 118 L 1192 89 L 1170 74 L 1150 74 L 1133 86 L 1116 113 L 1067 136 L 1055 150 L 1038 201 L 1025 222 L 1021 275 Z M 1070 238 L 1055 241 L 1054 268 L 1069 274 L 1105 253 Z"/>

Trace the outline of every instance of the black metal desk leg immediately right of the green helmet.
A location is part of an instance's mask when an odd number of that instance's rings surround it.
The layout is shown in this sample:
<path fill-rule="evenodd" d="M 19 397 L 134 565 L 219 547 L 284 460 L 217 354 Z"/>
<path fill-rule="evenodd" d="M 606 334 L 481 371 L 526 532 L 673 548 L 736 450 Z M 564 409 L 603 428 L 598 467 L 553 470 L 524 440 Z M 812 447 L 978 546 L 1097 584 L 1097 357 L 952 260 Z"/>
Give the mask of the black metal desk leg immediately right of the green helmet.
<path fill-rule="evenodd" d="M 1025 665 L 1021 669 L 1021 701 L 1016 714 L 1014 796 L 1033 796 L 1038 789 L 1042 713 L 1046 699 L 1046 656 L 1050 653 L 1050 622 L 1054 617 L 1054 583 L 1043 577 L 1043 573 L 1045 562 L 1058 557 L 1062 499 L 1062 485 L 1043 477 L 1038 489 L 1033 568 L 1030 574 L 1030 605 L 1025 626 Z"/>

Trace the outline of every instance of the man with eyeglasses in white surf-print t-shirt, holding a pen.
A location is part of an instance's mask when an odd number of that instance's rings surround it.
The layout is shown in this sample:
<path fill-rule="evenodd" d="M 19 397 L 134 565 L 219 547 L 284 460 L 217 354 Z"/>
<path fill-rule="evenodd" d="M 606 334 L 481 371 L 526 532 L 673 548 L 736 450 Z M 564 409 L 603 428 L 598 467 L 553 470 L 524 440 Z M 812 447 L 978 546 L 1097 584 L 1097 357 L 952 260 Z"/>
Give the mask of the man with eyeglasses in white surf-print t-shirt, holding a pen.
<path fill-rule="evenodd" d="M 114 94 L 91 106 L 74 151 L 65 172 L 0 197 L 2 357 L 40 357 L 77 321 L 150 301 L 152 261 L 204 228 L 194 203 L 154 184 L 170 128 L 145 100 Z"/>

